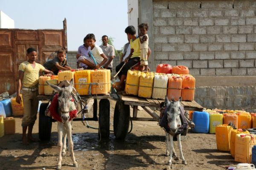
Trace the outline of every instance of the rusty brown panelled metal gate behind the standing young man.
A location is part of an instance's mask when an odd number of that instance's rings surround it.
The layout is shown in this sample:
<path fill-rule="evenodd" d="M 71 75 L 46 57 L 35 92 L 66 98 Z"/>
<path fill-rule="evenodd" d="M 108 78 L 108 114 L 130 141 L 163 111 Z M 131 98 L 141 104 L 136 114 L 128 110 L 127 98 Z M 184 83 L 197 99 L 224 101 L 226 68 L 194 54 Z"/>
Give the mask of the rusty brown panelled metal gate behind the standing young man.
<path fill-rule="evenodd" d="M 18 68 L 27 61 L 26 49 L 38 51 L 36 62 L 44 64 L 49 55 L 60 48 L 67 51 L 67 22 L 63 29 L 0 29 L 0 93 L 16 91 Z"/>

